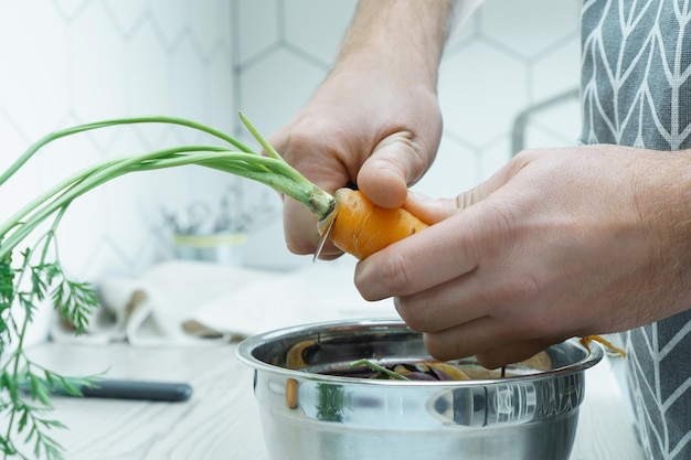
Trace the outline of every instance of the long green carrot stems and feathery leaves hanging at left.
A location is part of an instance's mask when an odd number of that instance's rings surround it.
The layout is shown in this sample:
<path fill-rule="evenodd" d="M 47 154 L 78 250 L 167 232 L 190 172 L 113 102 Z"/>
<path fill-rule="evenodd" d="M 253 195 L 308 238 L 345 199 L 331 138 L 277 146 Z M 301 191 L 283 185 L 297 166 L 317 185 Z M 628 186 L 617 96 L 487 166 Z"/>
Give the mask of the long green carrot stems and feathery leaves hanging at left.
<path fill-rule="evenodd" d="M 62 318 L 84 332 L 97 297 L 89 284 L 71 280 L 60 263 L 56 228 L 74 200 L 124 174 L 196 164 L 262 182 L 306 205 L 319 218 L 333 210 L 334 199 L 317 188 L 280 156 L 240 114 L 241 120 L 257 139 L 266 156 L 249 149 L 237 139 L 191 120 L 156 116 L 121 118 L 81 125 L 50 133 L 32 145 L 0 175 L 2 185 L 42 147 L 60 138 L 85 131 L 124 125 L 168 124 L 202 131 L 221 145 L 180 146 L 141 154 L 116 158 L 91 165 L 56 183 L 0 223 L 0 452 L 4 458 L 62 459 L 64 451 L 51 437 L 54 428 L 64 428 L 51 418 L 52 387 L 60 386 L 79 396 L 85 385 L 97 384 L 97 376 L 66 377 L 34 363 L 25 353 L 24 338 L 38 306 L 51 301 Z M 6 195 L 7 199 L 7 195 Z M 33 247 L 22 245 L 42 224 L 49 229 Z M 43 227 L 42 227 L 43 228 Z"/>

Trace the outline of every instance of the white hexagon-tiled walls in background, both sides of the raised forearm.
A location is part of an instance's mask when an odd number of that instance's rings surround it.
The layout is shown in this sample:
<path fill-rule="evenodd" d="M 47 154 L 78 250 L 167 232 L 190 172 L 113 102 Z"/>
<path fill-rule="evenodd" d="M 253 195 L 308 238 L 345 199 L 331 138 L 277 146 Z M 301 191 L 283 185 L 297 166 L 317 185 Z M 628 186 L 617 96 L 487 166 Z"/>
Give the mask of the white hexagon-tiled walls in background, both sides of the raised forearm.
<path fill-rule="evenodd" d="M 0 0 L 0 170 L 50 131 L 129 116 L 190 118 L 255 146 L 237 110 L 265 135 L 287 122 L 329 71 L 355 3 Z M 417 190 L 455 195 L 521 148 L 575 143 L 578 9 L 580 0 L 488 0 L 454 32 L 439 78 L 444 138 Z M 61 140 L 3 185 L 0 221 L 94 162 L 202 141 L 167 126 Z M 78 279 L 136 276 L 176 257 L 171 216 L 187 225 L 219 215 L 246 235 L 243 266 L 311 263 L 285 249 L 275 193 L 198 167 L 130 174 L 75 201 L 60 227 L 61 260 Z"/>

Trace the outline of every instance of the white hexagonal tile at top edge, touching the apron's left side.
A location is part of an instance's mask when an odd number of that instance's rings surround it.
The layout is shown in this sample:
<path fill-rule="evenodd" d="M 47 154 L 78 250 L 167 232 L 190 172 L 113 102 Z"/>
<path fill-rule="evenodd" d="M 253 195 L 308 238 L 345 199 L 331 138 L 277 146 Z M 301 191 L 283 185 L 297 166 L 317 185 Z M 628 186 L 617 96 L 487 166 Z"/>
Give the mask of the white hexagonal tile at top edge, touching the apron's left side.
<path fill-rule="evenodd" d="M 495 0 L 482 7 L 481 30 L 524 57 L 578 32 L 580 0 Z"/>

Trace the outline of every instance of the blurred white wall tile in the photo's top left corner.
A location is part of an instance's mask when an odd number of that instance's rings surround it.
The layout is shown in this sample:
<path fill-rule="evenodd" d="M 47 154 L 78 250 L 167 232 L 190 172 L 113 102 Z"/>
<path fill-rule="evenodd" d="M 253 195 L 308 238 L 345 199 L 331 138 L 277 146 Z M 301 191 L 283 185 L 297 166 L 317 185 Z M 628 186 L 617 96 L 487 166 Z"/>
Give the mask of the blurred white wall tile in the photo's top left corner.
<path fill-rule="evenodd" d="M 0 3 L 0 106 L 31 140 L 67 110 L 63 20 L 42 1 Z"/>

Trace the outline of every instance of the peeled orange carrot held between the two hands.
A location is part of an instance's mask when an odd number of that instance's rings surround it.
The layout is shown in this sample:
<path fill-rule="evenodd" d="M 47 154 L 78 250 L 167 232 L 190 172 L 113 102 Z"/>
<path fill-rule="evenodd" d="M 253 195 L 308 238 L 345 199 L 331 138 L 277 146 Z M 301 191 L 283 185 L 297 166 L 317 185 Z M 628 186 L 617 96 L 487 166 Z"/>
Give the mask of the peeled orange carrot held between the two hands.
<path fill-rule="evenodd" d="M 332 215 L 320 222 L 320 232 L 326 232 L 334 218 L 331 242 L 359 259 L 428 227 L 403 208 L 374 205 L 358 190 L 339 189 L 334 197 Z"/>

